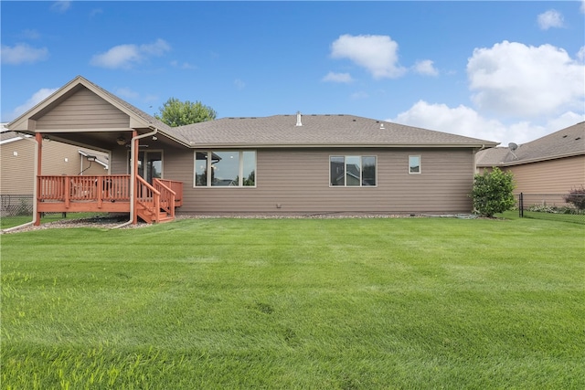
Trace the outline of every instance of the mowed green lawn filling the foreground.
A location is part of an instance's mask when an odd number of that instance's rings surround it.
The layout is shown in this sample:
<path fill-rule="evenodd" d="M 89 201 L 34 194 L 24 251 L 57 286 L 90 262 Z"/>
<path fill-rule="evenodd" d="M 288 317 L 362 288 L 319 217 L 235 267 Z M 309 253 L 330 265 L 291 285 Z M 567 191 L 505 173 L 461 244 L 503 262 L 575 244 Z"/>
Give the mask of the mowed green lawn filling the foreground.
<path fill-rule="evenodd" d="M 4 235 L 1 386 L 585 388 L 583 233 L 404 218 Z"/>

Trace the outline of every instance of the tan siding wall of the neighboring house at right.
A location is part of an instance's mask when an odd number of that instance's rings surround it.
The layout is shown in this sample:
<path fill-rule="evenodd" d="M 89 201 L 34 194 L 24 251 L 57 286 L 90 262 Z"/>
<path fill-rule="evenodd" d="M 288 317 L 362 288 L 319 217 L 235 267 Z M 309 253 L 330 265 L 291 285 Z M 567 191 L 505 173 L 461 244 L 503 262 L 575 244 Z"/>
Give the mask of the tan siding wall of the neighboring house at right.
<path fill-rule="evenodd" d="M 585 155 L 505 168 L 514 174 L 515 193 L 566 194 L 585 185 Z"/>

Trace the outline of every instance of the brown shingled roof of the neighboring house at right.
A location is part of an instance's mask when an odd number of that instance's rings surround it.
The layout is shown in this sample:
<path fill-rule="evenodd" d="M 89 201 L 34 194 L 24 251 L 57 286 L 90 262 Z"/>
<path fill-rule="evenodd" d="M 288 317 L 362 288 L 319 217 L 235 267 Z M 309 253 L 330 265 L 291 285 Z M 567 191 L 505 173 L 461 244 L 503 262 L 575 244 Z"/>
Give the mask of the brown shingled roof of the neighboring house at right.
<path fill-rule="evenodd" d="M 477 153 L 477 166 L 507 166 L 535 163 L 585 154 L 585 121 L 553 132 L 535 141 Z"/>

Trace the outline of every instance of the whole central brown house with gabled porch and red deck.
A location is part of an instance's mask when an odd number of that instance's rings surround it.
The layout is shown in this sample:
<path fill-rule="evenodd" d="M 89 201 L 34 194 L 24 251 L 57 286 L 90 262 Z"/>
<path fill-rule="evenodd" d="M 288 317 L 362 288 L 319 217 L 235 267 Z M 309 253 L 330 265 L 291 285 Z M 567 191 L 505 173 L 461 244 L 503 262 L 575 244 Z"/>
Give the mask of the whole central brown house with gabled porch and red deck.
<path fill-rule="evenodd" d="M 162 221 L 175 206 L 184 213 L 468 213 L 475 153 L 497 144 L 353 115 L 171 128 L 82 77 L 8 127 L 108 151 L 111 202 L 105 195 L 96 202 L 102 211 L 128 204 L 133 222 Z M 59 194 L 39 197 L 78 207 L 68 202 L 79 195 Z"/>

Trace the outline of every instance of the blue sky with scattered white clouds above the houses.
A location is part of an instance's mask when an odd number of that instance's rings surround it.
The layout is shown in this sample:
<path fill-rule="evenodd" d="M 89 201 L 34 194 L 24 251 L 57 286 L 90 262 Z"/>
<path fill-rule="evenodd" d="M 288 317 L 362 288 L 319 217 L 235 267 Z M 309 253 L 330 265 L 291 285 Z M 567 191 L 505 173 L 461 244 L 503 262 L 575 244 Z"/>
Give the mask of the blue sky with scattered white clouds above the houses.
<path fill-rule="evenodd" d="M 2 1 L 1 118 L 81 75 L 154 114 L 352 114 L 490 141 L 585 120 L 585 2 Z"/>

